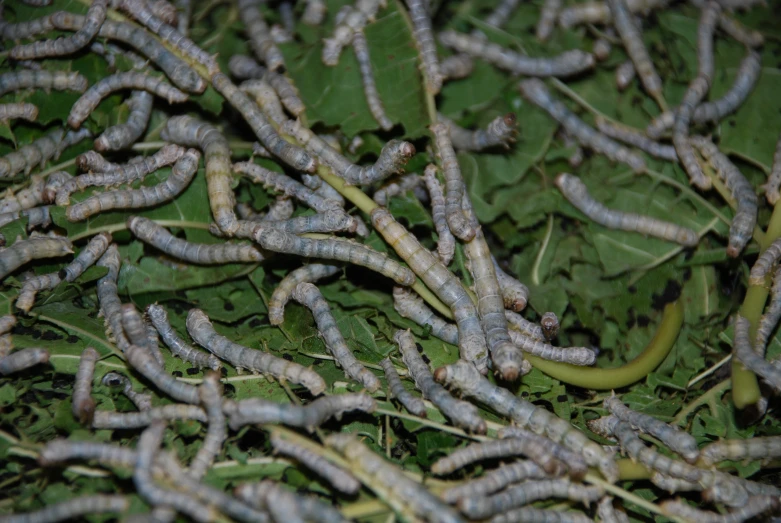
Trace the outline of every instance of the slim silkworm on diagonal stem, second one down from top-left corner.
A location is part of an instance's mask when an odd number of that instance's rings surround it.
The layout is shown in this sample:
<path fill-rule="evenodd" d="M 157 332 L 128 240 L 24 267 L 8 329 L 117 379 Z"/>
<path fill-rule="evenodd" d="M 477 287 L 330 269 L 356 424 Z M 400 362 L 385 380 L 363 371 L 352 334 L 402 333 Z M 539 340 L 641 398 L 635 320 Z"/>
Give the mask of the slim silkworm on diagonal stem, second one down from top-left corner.
<path fill-rule="evenodd" d="M 254 0 L 241 0 L 242 2 L 253 2 Z M 241 92 L 227 76 L 217 73 L 212 76 L 212 85 L 222 94 L 230 104 L 241 113 L 249 126 L 252 128 L 255 136 L 260 143 L 268 149 L 271 154 L 299 171 L 312 173 L 315 171 L 317 163 L 305 150 L 292 145 L 282 139 L 274 130 L 274 127 L 266 119 L 258 105 Z"/>

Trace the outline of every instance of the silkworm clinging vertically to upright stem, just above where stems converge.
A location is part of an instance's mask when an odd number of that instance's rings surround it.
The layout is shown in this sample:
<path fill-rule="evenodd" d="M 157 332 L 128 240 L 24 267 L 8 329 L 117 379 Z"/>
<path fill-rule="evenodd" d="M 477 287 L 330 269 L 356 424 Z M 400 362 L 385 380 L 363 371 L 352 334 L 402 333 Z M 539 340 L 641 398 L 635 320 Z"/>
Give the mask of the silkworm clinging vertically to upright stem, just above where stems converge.
<path fill-rule="evenodd" d="M 453 143 L 450 140 L 450 128 L 438 122 L 433 124 L 434 142 L 437 154 L 442 160 L 442 172 L 445 176 L 445 217 L 450 231 L 457 238 L 469 242 L 477 232 L 472 226 L 473 217 L 466 216 L 462 209 L 462 200 L 466 196 L 466 184 L 458 166 Z"/>

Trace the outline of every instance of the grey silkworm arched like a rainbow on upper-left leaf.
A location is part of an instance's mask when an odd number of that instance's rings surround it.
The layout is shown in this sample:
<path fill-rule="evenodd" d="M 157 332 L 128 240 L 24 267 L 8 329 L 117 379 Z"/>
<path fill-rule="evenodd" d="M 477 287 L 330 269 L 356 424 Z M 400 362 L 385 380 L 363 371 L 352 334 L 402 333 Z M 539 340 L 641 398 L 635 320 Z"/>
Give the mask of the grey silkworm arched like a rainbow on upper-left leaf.
<path fill-rule="evenodd" d="M 148 91 L 168 101 L 169 104 L 186 102 L 188 96 L 166 82 L 162 77 L 151 76 L 140 71 L 129 71 L 108 76 L 85 92 L 73 107 L 68 116 L 68 125 L 78 129 L 82 122 L 97 108 L 101 100 L 121 89 Z"/>

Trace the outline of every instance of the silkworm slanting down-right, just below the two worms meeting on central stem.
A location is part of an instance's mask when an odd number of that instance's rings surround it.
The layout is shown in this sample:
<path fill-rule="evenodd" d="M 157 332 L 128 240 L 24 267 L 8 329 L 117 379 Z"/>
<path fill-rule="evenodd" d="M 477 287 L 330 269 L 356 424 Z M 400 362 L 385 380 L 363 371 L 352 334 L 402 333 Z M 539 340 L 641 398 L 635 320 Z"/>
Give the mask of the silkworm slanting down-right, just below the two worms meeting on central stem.
<path fill-rule="evenodd" d="M 393 336 L 402 359 L 409 369 L 415 386 L 457 427 L 476 434 L 485 434 L 485 420 L 480 417 L 477 407 L 466 401 L 454 398 L 444 387 L 434 381 L 431 370 L 423 361 L 415 344 L 415 338 L 409 331 L 398 330 Z"/>

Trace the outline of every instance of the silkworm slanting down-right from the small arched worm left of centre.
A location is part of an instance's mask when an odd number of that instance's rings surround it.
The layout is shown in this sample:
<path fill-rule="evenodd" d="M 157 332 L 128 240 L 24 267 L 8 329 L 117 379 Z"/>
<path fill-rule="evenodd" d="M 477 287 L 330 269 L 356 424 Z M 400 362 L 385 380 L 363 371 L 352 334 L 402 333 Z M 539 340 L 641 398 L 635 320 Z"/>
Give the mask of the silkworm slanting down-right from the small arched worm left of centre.
<path fill-rule="evenodd" d="M 355 359 L 344 341 L 342 333 L 339 332 L 339 327 L 336 325 L 328 303 L 318 288 L 309 282 L 301 282 L 296 285 L 292 297 L 312 311 L 319 335 L 323 338 L 325 346 L 333 355 L 337 365 L 344 369 L 345 374 L 362 384 L 369 392 L 378 390 L 380 380 Z"/>

